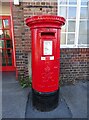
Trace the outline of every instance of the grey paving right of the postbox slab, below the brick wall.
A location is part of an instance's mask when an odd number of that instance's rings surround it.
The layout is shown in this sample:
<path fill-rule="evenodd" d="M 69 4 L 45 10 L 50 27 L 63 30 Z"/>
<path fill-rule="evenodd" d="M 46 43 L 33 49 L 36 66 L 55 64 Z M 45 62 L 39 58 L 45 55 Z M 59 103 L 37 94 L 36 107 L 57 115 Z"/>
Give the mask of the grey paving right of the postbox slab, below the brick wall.
<path fill-rule="evenodd" d="M 87 82 L 61 87 L 60 92 L 69 106 L 73 118 L 87 118 Z"/>

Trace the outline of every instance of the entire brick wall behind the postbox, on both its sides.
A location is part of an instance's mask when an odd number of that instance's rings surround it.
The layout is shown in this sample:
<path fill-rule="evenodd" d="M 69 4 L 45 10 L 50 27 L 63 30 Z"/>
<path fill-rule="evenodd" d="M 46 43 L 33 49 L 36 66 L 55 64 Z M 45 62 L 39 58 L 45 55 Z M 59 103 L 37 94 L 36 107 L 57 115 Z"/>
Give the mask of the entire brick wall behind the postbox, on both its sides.
<path fill-rule="evenodd" d="M 33 15 L 57 15 L 57 0 L 20 3 L 13 5 L 13 22 L 16 46 L 16 64 L 19 76 L 29 76 L 29 53 L 31 52 L 31 34 L 25 19 Z M 89 79 L 89 49 L 61 49 L 61 83 L 74 83 L 76 80 Z M 30 65 L 31 66 L 31 65 Z"/>

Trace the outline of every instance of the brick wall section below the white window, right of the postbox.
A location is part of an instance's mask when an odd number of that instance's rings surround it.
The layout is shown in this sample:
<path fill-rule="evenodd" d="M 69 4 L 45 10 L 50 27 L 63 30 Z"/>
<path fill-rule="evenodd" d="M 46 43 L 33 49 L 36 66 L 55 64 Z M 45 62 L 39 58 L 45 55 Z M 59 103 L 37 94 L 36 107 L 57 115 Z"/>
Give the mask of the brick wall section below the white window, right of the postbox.
<path fill-rule="evenodd" d="M 61 83 L 89 80 L 89 48 L 61 49 Z"/>

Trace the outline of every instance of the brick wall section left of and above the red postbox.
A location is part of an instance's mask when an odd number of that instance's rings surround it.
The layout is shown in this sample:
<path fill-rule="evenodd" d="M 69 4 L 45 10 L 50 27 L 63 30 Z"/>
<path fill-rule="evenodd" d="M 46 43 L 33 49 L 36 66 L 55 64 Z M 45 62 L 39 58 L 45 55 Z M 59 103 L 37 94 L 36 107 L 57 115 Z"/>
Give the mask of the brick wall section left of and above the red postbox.
<path fill-rule="evenodd" d="M 13 23 L 14 37 L 16 47 L 16 65 L 18 74 L 22 78 L 29 76 L 28 60 L 29 52 L 31 51 L 31 34 L 25 19 L 33 15 L 42 14 L 57 14 L 56 0 L 45 0 L 38 2 L 30 0 L 30 2 L 22 2 L 19 6 L 13 5 Z M 31 66 L 31 65 L 30 65 Z"/>

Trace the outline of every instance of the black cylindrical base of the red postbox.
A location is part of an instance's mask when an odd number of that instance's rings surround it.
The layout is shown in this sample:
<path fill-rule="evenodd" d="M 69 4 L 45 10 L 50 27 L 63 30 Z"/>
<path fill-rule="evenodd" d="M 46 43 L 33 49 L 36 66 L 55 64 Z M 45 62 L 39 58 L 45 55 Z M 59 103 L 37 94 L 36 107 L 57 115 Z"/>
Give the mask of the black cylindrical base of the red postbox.
<path fill-rule="evenodd" d="M 58 106 L 59 89 L 50 93 L 39 93 L 32 89 L 32 104 L 39 111 L 51 111 Z"/>

